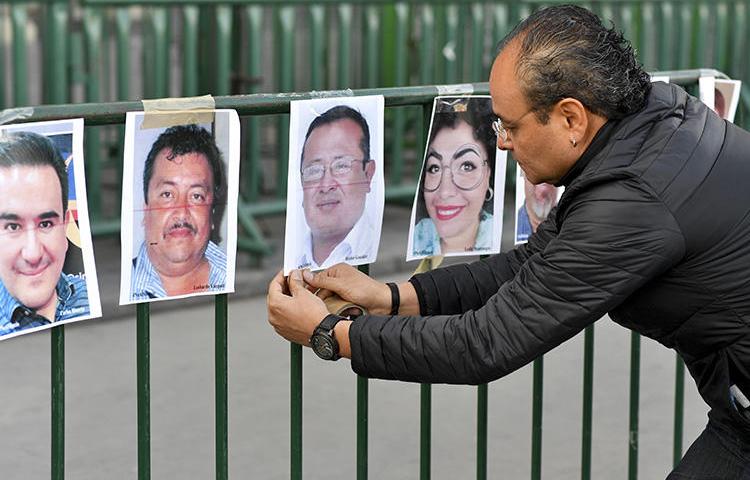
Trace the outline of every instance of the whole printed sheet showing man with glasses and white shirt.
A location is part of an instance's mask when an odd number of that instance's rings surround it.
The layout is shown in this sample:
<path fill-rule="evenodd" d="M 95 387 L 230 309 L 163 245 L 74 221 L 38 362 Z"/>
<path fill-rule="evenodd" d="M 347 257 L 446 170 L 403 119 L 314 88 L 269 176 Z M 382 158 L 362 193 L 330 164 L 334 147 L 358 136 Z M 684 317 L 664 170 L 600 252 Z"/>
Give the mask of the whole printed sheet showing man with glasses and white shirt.
<path fill-rule="evenodd" d="M 384 105 L 380 95 L 291 102 L 285 275 L 377 258 Z"/>

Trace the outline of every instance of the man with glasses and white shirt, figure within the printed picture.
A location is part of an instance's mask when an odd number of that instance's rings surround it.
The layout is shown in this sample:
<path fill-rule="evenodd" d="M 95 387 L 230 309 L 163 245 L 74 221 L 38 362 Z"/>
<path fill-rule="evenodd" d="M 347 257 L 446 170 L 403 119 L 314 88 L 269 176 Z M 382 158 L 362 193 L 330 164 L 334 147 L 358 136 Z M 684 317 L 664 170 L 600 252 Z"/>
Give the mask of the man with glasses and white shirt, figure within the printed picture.
<path fill-rule="evenodd" d="M 355 107 L 327 108 L 307 127 L 297 180 L 306 229 L 299 235 L 301 249 L 292 268 L 317 270 L 340 262 L 359 265 L 375 259 L 382 202 L 380 213 L 368 215 L 366 211 L 368 197 L 375 196 L 379 183 L 376 173 L 382 177 L 382 172 L 378 172 L 371 148 L 370 125 Z M 371 202 L 377 206 L 376 199 Z M 289 241 L 289 228 L 287 232 Z"/>

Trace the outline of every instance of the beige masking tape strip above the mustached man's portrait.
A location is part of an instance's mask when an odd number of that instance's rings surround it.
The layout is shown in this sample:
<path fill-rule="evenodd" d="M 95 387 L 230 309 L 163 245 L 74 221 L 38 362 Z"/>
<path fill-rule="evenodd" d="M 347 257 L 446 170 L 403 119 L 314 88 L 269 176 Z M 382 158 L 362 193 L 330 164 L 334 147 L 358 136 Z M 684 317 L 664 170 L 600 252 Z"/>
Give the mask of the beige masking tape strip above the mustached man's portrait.
<path fill-rule="evenodd" d="M 201 97 L 160 98 L 143 100 L 141 129 L 166 128 L 191 123 L 214 121 L 216 102 L 211 95 Z"/>

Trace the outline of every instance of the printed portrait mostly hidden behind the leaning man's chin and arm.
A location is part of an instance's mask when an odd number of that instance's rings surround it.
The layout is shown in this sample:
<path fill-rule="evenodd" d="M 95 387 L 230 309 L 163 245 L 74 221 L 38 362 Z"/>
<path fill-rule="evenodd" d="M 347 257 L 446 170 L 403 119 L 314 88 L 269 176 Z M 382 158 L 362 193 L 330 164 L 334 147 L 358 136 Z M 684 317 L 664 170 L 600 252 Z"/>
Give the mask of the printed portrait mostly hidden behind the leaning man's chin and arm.
<path fill-rule="evenodd" d="M 526 178 L 523 170 L 516 166 L 516 228 L 515 243 L 526 243 L 540 223 L 557 206 L 564 187 L 549 183 L 534 185 Z"/>

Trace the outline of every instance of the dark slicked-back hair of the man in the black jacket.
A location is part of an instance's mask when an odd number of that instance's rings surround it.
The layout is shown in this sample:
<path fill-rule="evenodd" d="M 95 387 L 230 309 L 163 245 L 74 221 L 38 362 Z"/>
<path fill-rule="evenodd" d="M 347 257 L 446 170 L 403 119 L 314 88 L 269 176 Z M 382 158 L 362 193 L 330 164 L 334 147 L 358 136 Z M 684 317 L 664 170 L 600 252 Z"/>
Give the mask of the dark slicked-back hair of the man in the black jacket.
<path fill-rule="evenodd" d="M 608 119 L 622 118 L 646 103 L 651 81 L 630 42 L 585 8 L 537 10 L 500 42 L 498 54 L 512 41 L 519 42 L 519 84 L 542 123 L 566 97 Z"/>

